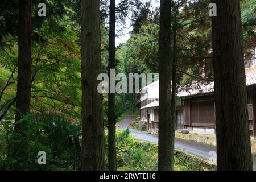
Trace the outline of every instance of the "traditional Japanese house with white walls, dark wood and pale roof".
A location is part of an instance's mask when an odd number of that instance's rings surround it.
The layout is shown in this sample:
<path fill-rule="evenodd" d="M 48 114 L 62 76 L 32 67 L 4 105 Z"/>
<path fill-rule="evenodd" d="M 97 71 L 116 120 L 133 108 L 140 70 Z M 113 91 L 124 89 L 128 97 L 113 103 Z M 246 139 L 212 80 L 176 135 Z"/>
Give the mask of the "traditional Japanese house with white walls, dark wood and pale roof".
<path fill-rule="evenodd" d="M 245 69 L 247 105 L 250 134 L 256 131 L 256 67 Z M 154 85 L 154 86 L 152 86 Z M 148 130 L 158 130 L 159 81 L 146 88 L 141 96 L 141 121 L 147 122 Z M 150 93 L 155 93 L 152 98 Z M 157 96 L 157 97 L 156 97 Z M 189 89 L 179 89 L 176 106 L 176 129 L 186 129 L 196 133 L 215 134 L 214 82 L 195 82 Z"/>

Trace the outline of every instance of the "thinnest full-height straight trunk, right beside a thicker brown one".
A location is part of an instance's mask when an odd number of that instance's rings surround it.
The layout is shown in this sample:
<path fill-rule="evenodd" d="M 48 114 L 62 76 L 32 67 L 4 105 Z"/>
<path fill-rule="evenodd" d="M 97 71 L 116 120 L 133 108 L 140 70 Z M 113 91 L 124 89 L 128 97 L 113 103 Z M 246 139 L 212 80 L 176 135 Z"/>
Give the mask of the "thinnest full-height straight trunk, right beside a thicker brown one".
<path fill-rule="evenodd" d="M 110 0 L 109 15 L 109 78 L 110 69 L 115 68 L 115 0 Z M 115 80 L 109 80 L 109 85 Z M 110 90 L 110 87 L 109 87 Z M 108 121 L 109 121 L 109 171 L 117 170 L 117 159 L 115 151 L 115 94 L 109 92 Z"/>

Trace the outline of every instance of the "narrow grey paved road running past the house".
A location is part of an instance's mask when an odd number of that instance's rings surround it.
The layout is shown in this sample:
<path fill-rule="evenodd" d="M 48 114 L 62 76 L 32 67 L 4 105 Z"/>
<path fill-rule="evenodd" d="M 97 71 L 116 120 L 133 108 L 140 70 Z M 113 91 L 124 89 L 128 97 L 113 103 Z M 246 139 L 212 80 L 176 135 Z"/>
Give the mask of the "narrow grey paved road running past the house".
<path fill-rule="evenodd" d="M 118 123 L 118 130 L 126 129 L 127 127 L 129 128 L 131 135 L 133 137 L 144 140 L 147 142 L 153 142 L 153 143 L 158 143 L 158 136 L 152 135 L 146 131 L 138 131 L 136 129 L 133 129 L 130 127 L 130 123 L 132 122 L 132 119 L 127 116 L 123 118 L 121 122 Z M 216 152 L 216 147 L 215 146 L 210 146 L 206 144 L 201 144 L 197 142 L 190 142 L 190 141 L 185 141 L 182 139 L 177 139 L 175 138 L 175 148 L 179 150 L 183 150 L 185 152 L 188 152 L 189 154 L 199 156 L 200 158 L 204 159 L 213 159 L 214 161 L 217 160 L 216 155 L 214 152 Z M 216 154 L 216 153 L 215 153 Z M 256 170 L 256 158 L 253 158 L 253 163 L 254 163 L 254 170 Z"/>

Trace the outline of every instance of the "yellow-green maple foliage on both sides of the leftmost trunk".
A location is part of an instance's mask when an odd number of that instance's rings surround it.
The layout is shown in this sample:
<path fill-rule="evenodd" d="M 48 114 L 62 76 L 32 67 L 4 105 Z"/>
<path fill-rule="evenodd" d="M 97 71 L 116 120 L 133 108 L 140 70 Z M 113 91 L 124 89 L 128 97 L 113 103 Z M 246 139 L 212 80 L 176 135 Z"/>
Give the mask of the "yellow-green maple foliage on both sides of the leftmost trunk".
<path fill-rule="evenodd" d="M 63 32 L 49 31 L 49 26 L 46 21 L 38 32 L 42 41 L 32 44 L 31 111 L 53 110 L 66 117 L 80 118 L 80 47 L 75 43 L 79 38 L 68 25 Z M 0 108 L 16 97 L 18 43 L 11 37 L 6 41 L 12 44 L 6 44 L 0 57 L 0 71 L 4 73 L 0 81 Z"/>

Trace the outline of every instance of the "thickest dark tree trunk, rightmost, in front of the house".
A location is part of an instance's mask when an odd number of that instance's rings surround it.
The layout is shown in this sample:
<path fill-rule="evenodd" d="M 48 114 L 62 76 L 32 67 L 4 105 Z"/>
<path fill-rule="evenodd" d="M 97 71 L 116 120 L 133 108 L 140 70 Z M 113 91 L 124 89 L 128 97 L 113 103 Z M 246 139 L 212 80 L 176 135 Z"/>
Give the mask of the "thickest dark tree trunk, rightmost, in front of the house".
<path fill-rule="evenodd" d="M 240 0 L 222 0 L 212 18 L 218 170 L 252 170 Z"/>

